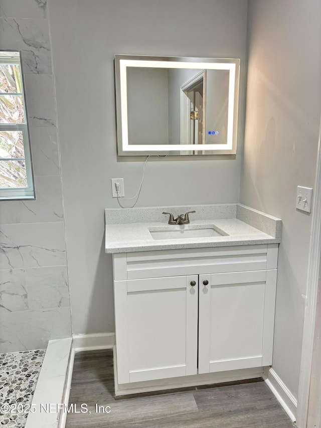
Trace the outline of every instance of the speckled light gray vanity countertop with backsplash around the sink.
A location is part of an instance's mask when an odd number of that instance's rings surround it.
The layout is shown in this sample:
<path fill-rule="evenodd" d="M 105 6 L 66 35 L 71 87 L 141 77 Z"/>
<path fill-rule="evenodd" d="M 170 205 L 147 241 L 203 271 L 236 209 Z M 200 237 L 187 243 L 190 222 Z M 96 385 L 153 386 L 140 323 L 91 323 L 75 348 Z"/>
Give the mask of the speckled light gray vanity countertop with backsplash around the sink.
<path fill-rule="evenodd" d="M 190 224 L 169 225 L 168 216 L 195 210 Z M 205 248 L 279 243 L 281 220 L 241 204 L 106 209 L 105 251 L 121 253 L 148 250 Z M 144 220 L 144 221 L 143 221 Z M 154 221 L 151 221 L 154 220 Z M 214 227 L 223 236 L 153 239 L 149 230 Z"/>

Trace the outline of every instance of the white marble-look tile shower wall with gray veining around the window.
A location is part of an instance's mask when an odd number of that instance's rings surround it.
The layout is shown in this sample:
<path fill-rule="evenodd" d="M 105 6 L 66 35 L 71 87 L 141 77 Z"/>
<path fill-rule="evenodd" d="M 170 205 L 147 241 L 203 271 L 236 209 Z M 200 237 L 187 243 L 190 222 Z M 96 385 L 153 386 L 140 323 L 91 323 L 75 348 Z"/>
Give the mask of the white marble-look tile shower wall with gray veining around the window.
<path fill-rule="evenodd" d="M 35 201 L 0 202 L 0 352 L 71 336 L 57 115 L 45 0 L 0 0 L 0 49 L 21 50 Z"/>

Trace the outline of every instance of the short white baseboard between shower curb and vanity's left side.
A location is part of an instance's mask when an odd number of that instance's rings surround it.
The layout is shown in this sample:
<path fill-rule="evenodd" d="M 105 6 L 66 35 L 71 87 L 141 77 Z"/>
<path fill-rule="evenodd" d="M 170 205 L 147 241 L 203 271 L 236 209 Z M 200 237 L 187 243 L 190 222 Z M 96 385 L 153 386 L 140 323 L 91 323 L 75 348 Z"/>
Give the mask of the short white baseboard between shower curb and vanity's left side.
<path fill-rule="evenodd" d="M 115 333 L 76 334 L 72 336 L 75 352 L 112 349 L 115 345 Z"/>

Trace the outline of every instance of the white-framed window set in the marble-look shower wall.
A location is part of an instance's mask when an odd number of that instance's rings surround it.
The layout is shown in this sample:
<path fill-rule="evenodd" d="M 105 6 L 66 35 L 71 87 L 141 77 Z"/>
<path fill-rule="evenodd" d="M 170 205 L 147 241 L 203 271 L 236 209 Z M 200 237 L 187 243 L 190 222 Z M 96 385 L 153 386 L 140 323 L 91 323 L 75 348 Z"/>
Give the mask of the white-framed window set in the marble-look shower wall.
<path fill-rule="evenodd" d="M 19 52 L 0 51 L 0 200 L 34 199 Z"/>

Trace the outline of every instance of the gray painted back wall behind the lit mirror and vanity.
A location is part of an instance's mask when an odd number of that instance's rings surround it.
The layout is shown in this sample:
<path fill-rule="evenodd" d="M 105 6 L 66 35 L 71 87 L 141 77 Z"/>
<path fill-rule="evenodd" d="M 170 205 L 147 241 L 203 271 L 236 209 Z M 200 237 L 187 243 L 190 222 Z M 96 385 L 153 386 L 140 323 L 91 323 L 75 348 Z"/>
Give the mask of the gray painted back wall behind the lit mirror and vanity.
<path fill-rule="evenodd" d="M 114 54 L 241 58 L 243 105 L 247 0 L 200 0 L 197 15 L 192 0 L 49 0 L 48 4 L 73 333 L 112 332 L 112 271 L 111 256 L 104 253 L 104 208 L 118 207 L 111 198 L 110 179 L 123 177 L 125 196 L 132 196 L 145 160 L 116 156 Z M 192 33 L 200 36 L 191 37 Z M 241 108 L 240 124 L 243 113 Z M 242 133 L 240 126 L 236 159 L 148 160 L 137 206 L 238 201 Z"/>

